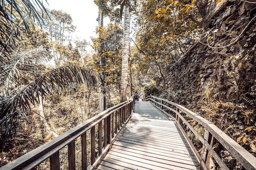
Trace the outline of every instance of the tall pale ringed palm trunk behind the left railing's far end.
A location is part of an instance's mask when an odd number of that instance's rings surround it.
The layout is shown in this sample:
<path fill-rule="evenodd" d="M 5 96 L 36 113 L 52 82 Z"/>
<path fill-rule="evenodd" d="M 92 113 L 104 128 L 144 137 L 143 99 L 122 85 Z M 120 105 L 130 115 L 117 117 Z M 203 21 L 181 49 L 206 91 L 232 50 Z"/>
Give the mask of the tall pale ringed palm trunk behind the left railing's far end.
<path fill-rule="evenodd" d="M 128 83 L 128 59 L 129 59 L 129 37 L 130 37 L 130 11 L 129 6 L 124 7 L 124 45 L 122 56 L 122 70 L 120 83 L 120 102 L 126 101 L 126 89 Z"/>

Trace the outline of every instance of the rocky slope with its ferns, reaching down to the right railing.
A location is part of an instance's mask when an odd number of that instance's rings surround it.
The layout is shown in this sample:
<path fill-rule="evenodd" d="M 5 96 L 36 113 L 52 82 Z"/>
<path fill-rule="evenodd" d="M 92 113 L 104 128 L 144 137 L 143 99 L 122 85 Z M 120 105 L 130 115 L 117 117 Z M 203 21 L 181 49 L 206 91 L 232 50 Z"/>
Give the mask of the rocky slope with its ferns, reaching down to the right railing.
<path fill-rule="evenodd" d="M 229 131 L 255 156 L 256 1 L 202 1 L 205 36 L 169 67 L 162 96 Z"/>

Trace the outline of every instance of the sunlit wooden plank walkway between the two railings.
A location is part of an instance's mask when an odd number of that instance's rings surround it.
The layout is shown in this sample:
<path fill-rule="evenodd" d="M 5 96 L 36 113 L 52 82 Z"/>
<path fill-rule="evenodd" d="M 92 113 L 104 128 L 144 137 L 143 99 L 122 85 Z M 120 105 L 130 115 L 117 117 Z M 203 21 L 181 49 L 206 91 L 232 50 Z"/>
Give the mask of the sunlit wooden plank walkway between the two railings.
<path fill-rule="evenodd" d="M 132 118 L 101 159 L 98 170 L 199 170 L 199 163 L 174 120 L 150 102 L 135 102 Z"/>

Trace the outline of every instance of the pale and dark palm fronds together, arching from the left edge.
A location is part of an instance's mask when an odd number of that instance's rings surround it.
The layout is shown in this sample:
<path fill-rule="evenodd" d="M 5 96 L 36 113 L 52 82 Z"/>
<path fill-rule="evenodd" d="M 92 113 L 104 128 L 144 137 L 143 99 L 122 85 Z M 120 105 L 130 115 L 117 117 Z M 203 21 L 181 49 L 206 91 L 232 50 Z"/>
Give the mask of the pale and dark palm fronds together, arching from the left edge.
<path fill-rule="evenodd" d="M 42 98 L 76 83 L 96 85 L 97 74 L 78 66 L 64 66 L 40 75 L 42 64 L 49 59 L 52 55 L 39 48 L 11 54 L 0 62 L 1 138 L 15 134 L 20 119 L 29 121 L 26 111 L 31 104 L 42 106 Z M 46 130 L 49 128 L 47 123 L 43 125 Z"/>

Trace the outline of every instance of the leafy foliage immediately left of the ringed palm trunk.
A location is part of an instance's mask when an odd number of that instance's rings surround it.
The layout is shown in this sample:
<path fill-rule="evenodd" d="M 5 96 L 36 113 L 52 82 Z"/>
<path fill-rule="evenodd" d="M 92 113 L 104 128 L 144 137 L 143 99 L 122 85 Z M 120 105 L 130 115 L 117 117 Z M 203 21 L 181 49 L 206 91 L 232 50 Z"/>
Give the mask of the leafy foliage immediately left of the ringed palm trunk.
<path fill-rule="evenodd" d="M 96 30 L 99 35 L 92 38 L 92 48 L 106 61 L 106 66 L 101 67 L 99 58 L 94 58 L 94 68 L 99 74 L 105 74 L 106 85 L 118 84 L 121 75 L 121 48 L 123 31 L 119 24 L 108 24 Z"/>

